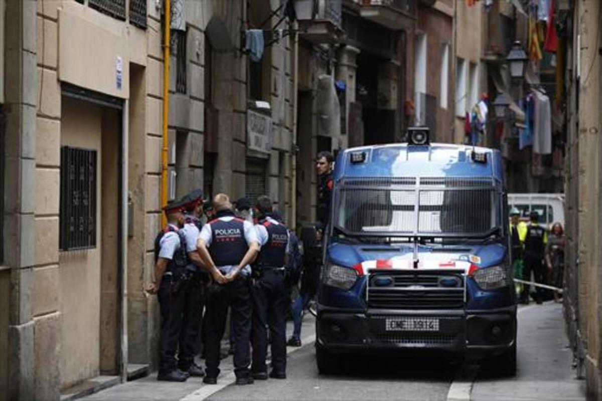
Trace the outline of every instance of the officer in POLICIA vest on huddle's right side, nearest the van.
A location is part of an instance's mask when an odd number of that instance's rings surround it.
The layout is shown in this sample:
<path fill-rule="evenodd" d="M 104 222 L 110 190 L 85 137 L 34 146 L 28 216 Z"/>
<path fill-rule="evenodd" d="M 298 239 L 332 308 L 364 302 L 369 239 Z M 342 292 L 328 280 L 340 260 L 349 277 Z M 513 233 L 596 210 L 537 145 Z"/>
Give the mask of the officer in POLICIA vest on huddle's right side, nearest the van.
<path fill-rule="evenodd" d="M 256 225 L 261 252 L 253 265 L 253 378 L 267 379 L 267 330 L 272 340 L 272 372 L 275 379 L 287 378 L 285 274 L 289 235 L 288 228 L 275 219 L 272 201 L 267 196 L 257 199 L 259 224 Z"/>

